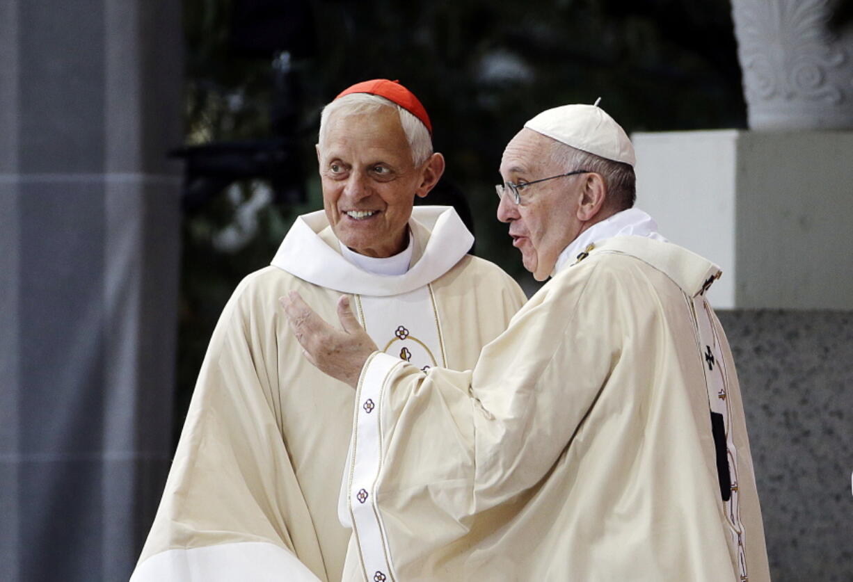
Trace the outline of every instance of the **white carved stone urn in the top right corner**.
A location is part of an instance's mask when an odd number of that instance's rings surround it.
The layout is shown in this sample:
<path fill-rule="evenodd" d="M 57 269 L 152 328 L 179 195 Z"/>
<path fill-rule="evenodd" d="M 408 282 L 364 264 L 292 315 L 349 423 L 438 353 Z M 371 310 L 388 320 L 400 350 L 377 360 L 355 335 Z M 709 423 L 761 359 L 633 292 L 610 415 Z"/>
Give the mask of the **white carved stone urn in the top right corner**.
<path fill-rule="evenodd" d="M 753 130 L 853 129 L 853 31 L 827 29 L 829 0 L 733 0 Z"/>

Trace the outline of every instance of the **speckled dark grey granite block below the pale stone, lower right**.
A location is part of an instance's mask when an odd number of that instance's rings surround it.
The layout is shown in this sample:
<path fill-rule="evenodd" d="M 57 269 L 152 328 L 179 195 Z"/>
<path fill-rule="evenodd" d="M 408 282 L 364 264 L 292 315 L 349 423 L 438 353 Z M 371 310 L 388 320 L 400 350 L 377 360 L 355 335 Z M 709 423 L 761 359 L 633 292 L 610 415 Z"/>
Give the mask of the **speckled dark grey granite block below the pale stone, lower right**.
<path fill-rule="evenodd" d="M 717 315 L 740 379 L 773 579 L 853 579 L 853 312 Z"/>

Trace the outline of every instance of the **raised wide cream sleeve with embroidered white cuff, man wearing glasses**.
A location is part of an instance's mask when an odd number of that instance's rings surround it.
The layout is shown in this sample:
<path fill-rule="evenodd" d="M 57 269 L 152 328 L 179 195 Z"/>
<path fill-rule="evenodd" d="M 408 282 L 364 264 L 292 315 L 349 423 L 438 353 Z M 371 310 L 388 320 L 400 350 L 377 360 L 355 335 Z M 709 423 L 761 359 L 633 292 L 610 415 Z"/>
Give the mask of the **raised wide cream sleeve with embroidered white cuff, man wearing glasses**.
<path fill-rule="evenodd" d="M 578 305 L 588 280 L 526 304 L 473 371 L 424 373 L 378 353 L 369 360 L 357 389 L 348 494 L 356 523 L 370 531 L 374 512 L 359 520 L 358 500 L 363 492 L 371 503 L 375 480 L 380 527 L 392 530 L 387 551 L 416 544 L 427 555 L 460 539 L 472 516 L 525 492 L 560 457 L 620 343 L 612 326 L 578 325 L 601 318 Z M 579 335 L 590 329 L 596 337 Z M 395 527 L 407 521 L 418 527 Z"/>

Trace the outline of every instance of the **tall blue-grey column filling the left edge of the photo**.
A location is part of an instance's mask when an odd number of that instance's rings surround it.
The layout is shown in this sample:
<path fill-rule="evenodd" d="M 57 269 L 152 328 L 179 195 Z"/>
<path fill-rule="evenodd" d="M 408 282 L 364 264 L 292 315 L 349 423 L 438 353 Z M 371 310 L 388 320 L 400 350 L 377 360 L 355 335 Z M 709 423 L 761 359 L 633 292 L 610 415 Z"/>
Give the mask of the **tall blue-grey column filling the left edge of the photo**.
<path fill-rule="evenodd" d="M 0 579 L 126 579 L 168 468 L 178 0 L 0 1 Z"/>

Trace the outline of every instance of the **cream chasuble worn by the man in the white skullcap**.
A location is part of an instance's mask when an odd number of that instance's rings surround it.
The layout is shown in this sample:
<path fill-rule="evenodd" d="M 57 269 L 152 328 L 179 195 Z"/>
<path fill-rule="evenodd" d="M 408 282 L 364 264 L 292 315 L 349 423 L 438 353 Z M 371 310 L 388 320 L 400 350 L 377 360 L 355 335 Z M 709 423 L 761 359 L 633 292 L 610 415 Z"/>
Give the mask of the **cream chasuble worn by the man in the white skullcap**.
<path fill-rule="evenodd" d="M 748 447 L 753 527 L 724 512 L 693 297 L 602 251 L 545 285 L 473 370 L 374 354 L 341 492 L 356 533 L 345 580 L 712 582 L 739 578 L 741 542 L 749 579 L 766 579 Z"/>

